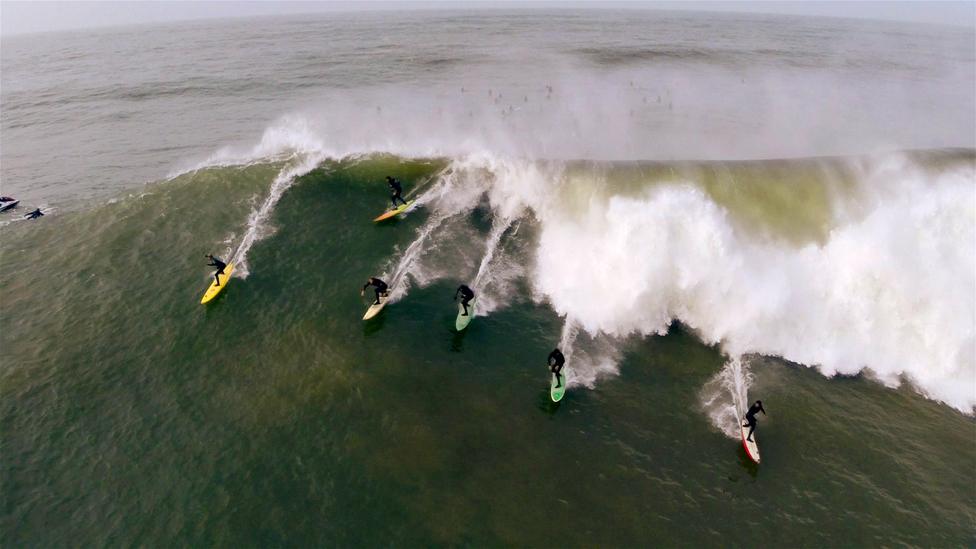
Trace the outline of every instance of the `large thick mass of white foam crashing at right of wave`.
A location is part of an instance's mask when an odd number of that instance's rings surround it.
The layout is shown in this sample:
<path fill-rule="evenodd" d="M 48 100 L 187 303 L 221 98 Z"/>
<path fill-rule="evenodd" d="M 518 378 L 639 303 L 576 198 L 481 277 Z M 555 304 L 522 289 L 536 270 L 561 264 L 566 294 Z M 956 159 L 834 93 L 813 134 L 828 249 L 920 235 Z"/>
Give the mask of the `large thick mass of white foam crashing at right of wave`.
<path fill-rule="evenodd" d="M 888 172 L 885 172 L 888 173 Z M 976 405 L 976 208 L 971 169 L 934 179 L 902 163 L 862 218 L 792 248 L 737 233 L 695 186 L 542 215 L 535 277 L 592 334 L 663 334 L 673 319 L 732 356 L 827 376 L 869 369 L 971 413 Z M 538 212 L 537 212 L 538 213 Z"/>

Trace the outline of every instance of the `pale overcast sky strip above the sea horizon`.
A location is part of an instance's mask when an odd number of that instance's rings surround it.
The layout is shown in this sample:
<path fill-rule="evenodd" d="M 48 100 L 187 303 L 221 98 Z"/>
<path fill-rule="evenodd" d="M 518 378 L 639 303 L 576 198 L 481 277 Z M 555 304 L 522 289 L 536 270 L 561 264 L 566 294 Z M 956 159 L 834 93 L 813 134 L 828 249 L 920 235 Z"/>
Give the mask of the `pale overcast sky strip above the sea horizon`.
<path fill-rule="evenodd" d="M 0 0 L 0 34 L 14 35 L 192 19 L 260 15 L 417 9 L 630 8 L 823 15 L 976 28 L 976 1 L 968 2 L 22 2 Z"/>

